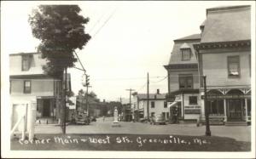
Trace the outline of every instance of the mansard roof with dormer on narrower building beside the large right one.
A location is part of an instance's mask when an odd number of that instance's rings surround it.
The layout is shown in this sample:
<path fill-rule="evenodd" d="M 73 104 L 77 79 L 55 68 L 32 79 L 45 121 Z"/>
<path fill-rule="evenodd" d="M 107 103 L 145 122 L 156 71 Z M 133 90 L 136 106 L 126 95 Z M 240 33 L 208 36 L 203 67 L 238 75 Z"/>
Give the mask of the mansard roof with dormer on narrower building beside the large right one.
<path fill-rule="evenodd" d="M 195 36 L 196 35 L 196 36 Z M 171 57 L 168 65 L 177 65 L 177 64 L 197 64 L 197 59 L 195 56 L 195 49 L 193 47 L 194 44 L 200 43 L 200 38 L 198 38 L 199 34 L 193 34 L 188 36 L 190 39 L 188 40 L 175 40 L 172 48 Z M 192 40 L 191 37 L 194 37 Z M 180 39 L 187 39 L 186 37 Z M 191 48 L 190 60 L 182 60 L 181 48 Z"/>

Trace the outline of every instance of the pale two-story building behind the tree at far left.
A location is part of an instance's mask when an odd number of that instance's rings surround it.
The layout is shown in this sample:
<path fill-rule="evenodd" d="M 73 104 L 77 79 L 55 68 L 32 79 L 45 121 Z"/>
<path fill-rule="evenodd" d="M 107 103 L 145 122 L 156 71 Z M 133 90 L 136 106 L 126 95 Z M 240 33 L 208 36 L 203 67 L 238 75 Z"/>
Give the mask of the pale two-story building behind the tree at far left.
<path fill-rule="evenodd" d="M 20 116 L 20 104 L 37 103 L 37 119 L 40 123 L 58 122 L 61 118 L 61 80 L 44 74 L 46 60 L 38 53 L 9 55 L 9 94 L 13 109 L 13 124 Z M 70 75 L 67 88 L 71 89 Z"/>

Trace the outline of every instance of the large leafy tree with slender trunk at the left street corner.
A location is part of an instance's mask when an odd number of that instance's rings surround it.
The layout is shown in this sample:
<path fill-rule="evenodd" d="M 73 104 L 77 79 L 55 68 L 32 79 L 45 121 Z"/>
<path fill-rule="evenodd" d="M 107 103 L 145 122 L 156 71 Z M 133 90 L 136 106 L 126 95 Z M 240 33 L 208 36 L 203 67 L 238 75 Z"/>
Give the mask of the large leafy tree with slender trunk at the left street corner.
<path fill-rule="evenodd" d="M 67 67 L 73 67 L 77 61 L 75 50 L 83 49 L 90 40 L 90 35 L 84 32 L 89 18 L 79 15 L 80 11 L 78 5 L 40 5 L 29 15 L 32 35 L 40 40 L 38 53 L 47 60 L 43 69 L 49 76 L 62 80 L 65 71 L 67 77 Z M 62 92 L 62 123 L 66 121 L 64 94 L 66 96 L 66 90 Z M 66 125 L 63 127 L 63 133 L 66 133 Z"/>

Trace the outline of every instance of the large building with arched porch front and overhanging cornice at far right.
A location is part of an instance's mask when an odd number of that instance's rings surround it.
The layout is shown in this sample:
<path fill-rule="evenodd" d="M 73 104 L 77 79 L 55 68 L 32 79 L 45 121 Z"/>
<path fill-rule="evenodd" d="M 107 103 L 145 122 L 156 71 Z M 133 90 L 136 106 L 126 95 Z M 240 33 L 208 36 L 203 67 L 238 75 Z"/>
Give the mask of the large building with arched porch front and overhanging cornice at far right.
<path fill-rule="evenodd" d="M 255 29 L 255 28 L 254 28 Z M 251 7 L 207 9 L 201 42 L 195 44 L 200 76 L 207 76 L 207 105 L 201 80 L 202 117 L 226 124 L 251 120 Z"/>

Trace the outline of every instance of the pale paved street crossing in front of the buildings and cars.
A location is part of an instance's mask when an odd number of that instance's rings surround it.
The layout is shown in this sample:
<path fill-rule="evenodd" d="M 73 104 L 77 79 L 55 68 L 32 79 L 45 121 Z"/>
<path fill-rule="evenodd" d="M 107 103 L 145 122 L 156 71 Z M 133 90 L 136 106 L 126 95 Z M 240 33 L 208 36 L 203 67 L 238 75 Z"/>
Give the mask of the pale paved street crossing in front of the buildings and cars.
<path fill-rule="evenodd" d="M 68 125 L 67 133 L 129 133 L 129 134 L 179 134 L 204 135 L 205 126 L 195 124 L 150 125 L 142 122 L 120 122 L 121 127 L 112 127 L 113 118 L 98 118 L 90 125 Z M 250 126 L 211 126 L 212 136 L 230 137 L 238 141 L 251 141 Z M 36 126 L 35 133 L 61 133 L 61 128 L 54 125 Z"/>

